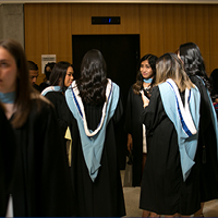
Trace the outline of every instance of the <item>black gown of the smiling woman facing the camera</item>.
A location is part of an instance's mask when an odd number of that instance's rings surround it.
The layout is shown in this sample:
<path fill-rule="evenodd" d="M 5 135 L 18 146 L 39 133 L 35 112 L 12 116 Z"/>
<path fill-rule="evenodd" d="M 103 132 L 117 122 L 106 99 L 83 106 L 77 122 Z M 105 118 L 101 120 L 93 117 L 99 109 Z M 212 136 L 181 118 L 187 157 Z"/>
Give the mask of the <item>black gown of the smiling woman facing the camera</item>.
<path fill-rule="evenodd" d="M 124 129 L 133 138 L 133 186 L 141 186 L 142 181 L 143 124 L 141 114 L 143 110 L 142 96 L 134 94 L 131 86 L 126 102 Z"/>

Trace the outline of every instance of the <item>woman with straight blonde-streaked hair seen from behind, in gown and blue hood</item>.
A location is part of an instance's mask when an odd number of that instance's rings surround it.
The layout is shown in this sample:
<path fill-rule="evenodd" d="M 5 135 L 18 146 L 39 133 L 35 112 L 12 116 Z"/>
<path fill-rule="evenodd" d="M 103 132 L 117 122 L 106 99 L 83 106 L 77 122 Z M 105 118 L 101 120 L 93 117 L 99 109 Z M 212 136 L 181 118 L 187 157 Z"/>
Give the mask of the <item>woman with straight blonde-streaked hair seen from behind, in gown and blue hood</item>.
<path fill-rule="evenodd" d="M 141 118 L 152 140 L 140 207 L 157 215 L 192 215 L 201 204 L 195 187 L 201 96 L 177 55 L 166 53 L 157 60 L 152 97 L 148 100 L 143 94 L 142 98 Z"/>

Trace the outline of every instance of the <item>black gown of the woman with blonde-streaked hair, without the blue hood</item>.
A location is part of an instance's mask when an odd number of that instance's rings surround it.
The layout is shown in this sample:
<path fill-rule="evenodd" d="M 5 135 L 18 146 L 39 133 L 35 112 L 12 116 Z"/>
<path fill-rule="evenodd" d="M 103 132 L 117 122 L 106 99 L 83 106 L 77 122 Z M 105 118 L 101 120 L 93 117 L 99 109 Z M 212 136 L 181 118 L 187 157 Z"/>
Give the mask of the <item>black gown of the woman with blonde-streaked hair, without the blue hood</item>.
<path fill-rule="evenodd" d="M 150 138 L 147 143 L 140 208 L 158 215 L 194 214 L 201 207 L 198 147 L 195 165 L 184 182 L 178 134 L 165 112 L 157 86 L 153 89 L 149 105 L 142 113 L 142 121 Z"/>

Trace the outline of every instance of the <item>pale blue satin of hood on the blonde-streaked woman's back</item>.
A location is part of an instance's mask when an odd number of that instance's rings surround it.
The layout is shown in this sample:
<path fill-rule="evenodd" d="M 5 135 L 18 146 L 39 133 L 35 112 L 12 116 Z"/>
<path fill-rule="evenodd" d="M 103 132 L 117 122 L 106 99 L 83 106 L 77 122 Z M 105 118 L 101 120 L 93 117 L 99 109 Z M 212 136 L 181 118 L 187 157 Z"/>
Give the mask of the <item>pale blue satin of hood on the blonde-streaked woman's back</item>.
<path fill-rule="evenodd" d="M 158 85 L 158 87 L 160 89 L 160 96 L 165 111 L 168 118 L 172 121 L 178 134 L 181 169 L 183 180 L 185 181 L 191 172 L 193 165 L 195 164 L 194 157 L 198 143 L 201 94 L 196 86 L 195 88 L 191 88 L 189 107 L 197 133 L 189 136 L 182 129 L 180 114 L 177 108 L 175 96 L 171 86 L 168 83 L 162 83 Z"/>

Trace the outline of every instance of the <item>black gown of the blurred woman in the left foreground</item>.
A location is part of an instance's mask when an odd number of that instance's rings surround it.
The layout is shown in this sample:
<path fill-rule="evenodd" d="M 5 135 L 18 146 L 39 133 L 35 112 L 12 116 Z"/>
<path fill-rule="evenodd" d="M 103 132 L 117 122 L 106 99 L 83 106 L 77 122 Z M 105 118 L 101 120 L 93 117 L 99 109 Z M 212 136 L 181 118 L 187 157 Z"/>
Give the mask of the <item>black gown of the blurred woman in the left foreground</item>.
<path fill-rule="evenodd" d="M 46 99 L 33 99 L 26 123 L 14 133 L 17 146 L 12 185 L 14 216 L 73 216 L 68 160 L 52 105 Z"/>

